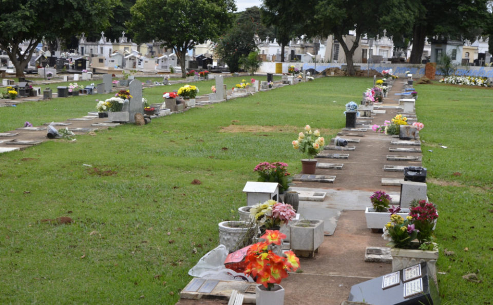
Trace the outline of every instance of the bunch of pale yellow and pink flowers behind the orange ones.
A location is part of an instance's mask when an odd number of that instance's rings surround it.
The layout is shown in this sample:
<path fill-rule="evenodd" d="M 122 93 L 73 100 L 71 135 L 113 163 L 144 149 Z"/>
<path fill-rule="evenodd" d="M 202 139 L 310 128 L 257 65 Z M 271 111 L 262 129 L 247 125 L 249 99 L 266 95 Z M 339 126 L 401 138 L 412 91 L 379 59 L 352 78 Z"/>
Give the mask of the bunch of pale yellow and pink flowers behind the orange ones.
<path fill-rule="evenodd" d="M 296 217 L 296 212 L 291 205 L 269 199 L 253 205 L 250 217 L 258 224 L 263 234 L 266 230 L 279 230 L 282 225 L 288 224 Z"/>

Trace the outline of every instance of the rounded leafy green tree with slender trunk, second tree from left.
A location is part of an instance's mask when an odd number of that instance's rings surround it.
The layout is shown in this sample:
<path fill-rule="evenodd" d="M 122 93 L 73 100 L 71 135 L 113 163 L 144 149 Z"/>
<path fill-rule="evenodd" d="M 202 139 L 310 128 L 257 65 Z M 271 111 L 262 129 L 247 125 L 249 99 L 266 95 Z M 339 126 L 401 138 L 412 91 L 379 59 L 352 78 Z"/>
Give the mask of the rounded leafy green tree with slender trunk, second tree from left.
<path fill-rule="evenodd" d="M 155 39 L 172 48 L 185 77 L 187 51 L 225 32 L 235 10 L 233 0 L 137 0 L 127 26 L 139 43 Z"/>

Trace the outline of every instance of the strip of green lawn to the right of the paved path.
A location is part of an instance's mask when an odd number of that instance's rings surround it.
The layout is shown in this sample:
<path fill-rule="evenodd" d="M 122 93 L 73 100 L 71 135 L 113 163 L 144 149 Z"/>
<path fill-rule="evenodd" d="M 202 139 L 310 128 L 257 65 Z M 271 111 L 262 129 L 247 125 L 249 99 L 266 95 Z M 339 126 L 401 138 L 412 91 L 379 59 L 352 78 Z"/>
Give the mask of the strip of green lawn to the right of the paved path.
<path fill-rule="evenodd" d="M 416 112 L 425 125 L 420 137 L 428 196 L 440 215 L 436 233 L 442 301 L 488 304 L 493 299 L 492 89 L 415 86 Z"/>

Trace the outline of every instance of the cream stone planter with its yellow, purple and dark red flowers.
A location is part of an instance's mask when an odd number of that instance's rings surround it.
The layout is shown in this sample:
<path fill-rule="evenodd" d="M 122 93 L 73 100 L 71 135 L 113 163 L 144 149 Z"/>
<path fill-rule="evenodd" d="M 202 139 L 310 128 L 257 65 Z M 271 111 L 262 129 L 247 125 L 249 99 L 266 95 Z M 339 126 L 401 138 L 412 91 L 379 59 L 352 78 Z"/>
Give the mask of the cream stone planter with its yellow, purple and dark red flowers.
<path fill-rule="evenodd" d="M 382 237 L 389 240 L 387 246 L 392 248 L 392 271 L 426 261 L 428 274 L 436 281 L 439 251 L 433 242 L 433 231 L 437 219 L 437 208 L 427 200 L 419 200 L 406 218 L 396 214 L 390 216 Z"/>

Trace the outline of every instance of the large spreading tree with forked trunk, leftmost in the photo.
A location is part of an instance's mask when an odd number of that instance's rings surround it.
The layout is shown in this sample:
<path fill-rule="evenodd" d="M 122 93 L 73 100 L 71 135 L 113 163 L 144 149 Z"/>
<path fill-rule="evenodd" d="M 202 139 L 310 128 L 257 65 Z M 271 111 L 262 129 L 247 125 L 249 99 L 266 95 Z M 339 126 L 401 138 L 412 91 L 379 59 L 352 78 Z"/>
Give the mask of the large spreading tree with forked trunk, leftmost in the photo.
<path fill-rule="evenodd" d="M 16 70 L 24 76 L 32 54 L 43 37 L 55 39 L 67 33 L 98 29 L 108 24 L 116 0 L 2 0 L 0 49 L 7 52 Z M 19 45 L 27 42 L 27 48 Z"/>

